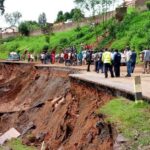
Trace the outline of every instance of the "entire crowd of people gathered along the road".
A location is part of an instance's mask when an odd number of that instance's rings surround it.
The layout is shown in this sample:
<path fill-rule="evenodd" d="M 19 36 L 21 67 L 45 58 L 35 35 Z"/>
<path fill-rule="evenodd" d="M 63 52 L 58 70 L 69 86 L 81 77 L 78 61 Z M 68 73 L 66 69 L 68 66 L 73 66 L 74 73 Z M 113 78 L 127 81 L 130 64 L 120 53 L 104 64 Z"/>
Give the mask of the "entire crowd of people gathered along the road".
<path fill-rule="evenodd" d="M 94 52 L 92 46 L 86 45 L 81 46 L 79 52 L 75 47 L 70 47 L 62 50 L 59 54 L 55 53 L 55 50 L 48 52 L 47 50 L 42 51 L 39 55 L 35 55 L 26 50 L 21 59 L 28 60 L 28 62 L 40 60 L 42 64 L 65 64 L 66 66 L 71 65 L 87 65 L 87 71 L 90 71 L 90 66 L 95 65 L 95 72 L 104 73 L 105 78 L 108 77 L 110 72 L 111 77 L 120 77 L 120 67 L 122 64 L 122 55 L 125 57 L 125 63 L 127 66 L 126 77 L 131 77 L 134 73 L 137 54 L 134 50 L 126 47 L 122 52 L 117 49 L 101 49 Z M 150 73 L 150 50 L 144 50 L 140 54 L 140 60 L 144 62 L 143 73 Z"/>

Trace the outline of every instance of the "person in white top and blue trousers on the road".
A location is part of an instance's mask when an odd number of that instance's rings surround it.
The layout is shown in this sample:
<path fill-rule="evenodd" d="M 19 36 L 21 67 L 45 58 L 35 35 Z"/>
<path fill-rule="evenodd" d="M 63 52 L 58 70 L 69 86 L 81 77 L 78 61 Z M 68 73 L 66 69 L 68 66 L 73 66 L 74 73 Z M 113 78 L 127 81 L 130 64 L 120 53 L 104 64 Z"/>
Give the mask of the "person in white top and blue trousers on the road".
<path fill-rule="evenodd" d="M 126 77 L 131 77 L 131 72 L 132 72 L 132 69 L 131 69 L 131 55 L 132 55 L 132 52 L 130 50 L 130 48 L 127 48 L 127 51 L 126 51 L 126 62 L 127 62 L 127 75 Z"/>

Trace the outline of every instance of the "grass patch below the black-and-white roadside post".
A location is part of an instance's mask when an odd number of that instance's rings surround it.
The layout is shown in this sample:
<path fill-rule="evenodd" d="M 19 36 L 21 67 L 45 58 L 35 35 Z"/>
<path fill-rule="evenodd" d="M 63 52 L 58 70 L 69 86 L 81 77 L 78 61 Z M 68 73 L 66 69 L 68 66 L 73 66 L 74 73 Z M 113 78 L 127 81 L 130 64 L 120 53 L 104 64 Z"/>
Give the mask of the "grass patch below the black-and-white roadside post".
<path fill-rule="evenodd" d="M 139 145 L 150 143 L 150 105 L 134 103 L 123 98 L 114 99 L 100 108 L 99 113 L 107 116 L 107 120 L 117 124 L 118 132 L 132 141 L 133 149 Z M 135 140 L 135 137 L 137 139 Z"/>

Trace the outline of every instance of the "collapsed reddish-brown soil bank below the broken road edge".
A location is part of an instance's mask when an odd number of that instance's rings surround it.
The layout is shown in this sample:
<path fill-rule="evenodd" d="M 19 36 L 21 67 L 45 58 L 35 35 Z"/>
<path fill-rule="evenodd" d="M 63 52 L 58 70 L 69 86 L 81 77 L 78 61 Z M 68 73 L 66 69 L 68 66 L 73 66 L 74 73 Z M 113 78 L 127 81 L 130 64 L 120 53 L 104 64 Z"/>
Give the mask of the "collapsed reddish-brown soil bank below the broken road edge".
<path fill-rule="evenodd" d="M 25 144 L 39 148 L 44 140 L 49 150 L 111 150 L 112 127 L 95 114 L 111 94 L 70 82 L 70 73 L 1 64 L 0 133 L 15 127 Z"/>

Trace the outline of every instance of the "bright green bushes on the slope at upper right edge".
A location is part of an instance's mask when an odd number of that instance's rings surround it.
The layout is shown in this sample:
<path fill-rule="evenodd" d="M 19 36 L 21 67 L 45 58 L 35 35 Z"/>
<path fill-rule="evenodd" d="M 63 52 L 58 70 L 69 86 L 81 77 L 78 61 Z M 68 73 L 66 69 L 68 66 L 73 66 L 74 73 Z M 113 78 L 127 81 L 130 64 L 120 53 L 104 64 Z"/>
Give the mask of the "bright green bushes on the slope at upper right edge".
<path fill-rule="evenodd" d="M 137 51 L 150 46 L 150 12 L 132 12 L 121 23 L 114 22 L 116 39 L 112 48 L 122 49 L 129 45 Z"/>

